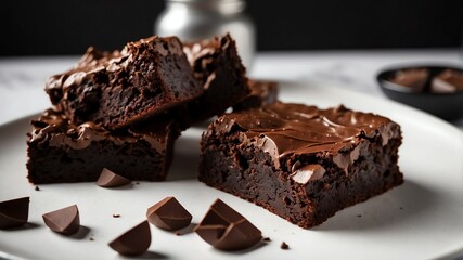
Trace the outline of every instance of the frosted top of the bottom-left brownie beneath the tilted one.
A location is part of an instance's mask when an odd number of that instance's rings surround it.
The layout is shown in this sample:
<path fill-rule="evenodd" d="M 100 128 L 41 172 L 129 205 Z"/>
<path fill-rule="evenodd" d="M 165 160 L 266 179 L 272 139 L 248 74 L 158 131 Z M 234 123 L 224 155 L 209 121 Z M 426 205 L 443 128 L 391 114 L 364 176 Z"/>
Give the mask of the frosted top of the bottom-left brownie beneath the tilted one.
<path fill-rule="evenodd" d="M 63 114 L 53 109 L 46 110 L 38 120 L 33 120 L 31 125 L 34 130 L 28 134 L 28 142 L 48 142 L 50 146 L 70 146 L 75 150 L 82 150 L 93 141 L 107 139 L 117 145 L 144 140 L 153 148 L 164 151 L 169 131 L 177 131 L 175 122 L 165 120 L 110 132 L 94 122 L 74 125 Z"/>

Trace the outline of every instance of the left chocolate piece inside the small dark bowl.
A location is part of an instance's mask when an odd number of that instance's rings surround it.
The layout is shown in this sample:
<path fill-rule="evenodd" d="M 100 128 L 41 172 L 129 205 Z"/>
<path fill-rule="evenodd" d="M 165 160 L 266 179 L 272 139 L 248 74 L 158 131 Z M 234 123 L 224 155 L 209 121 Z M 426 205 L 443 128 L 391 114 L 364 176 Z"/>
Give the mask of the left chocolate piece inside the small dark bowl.
<path fill-rule="evenodd" d="M 421 92 L 426 86 L 429 70 L 426 68 L 410 68 L 396 73 L 389 80 L 393 83 L 408 87 L 413 92 Z"/>

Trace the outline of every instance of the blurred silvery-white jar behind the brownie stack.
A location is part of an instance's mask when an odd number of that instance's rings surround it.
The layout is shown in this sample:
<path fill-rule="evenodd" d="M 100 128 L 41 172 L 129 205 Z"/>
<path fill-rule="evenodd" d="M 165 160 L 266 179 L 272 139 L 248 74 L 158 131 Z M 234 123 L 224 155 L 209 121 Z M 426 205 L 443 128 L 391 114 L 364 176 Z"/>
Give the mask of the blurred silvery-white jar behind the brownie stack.
<path fill-rule="evenodd" d="M 255 26 L 244 13 L 244 0 L 166 0 L 154 32 L 177 36 L 183 41 L 208 39 L 227 32 L 236 40 L 237 51 L 247 69 L 256 51 Z"/>

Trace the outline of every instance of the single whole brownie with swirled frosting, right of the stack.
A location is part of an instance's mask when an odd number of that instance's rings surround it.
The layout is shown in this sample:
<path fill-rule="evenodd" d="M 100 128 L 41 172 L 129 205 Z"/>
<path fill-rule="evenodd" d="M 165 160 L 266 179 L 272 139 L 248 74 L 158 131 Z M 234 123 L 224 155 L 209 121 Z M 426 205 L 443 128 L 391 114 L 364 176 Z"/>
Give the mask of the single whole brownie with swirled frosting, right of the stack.
<path fill-rule="evenodd" d="M 401 139 L 378 115 L 276 102 L 211 122 L 198 178 L 309 229 L 401 184 Z"/>

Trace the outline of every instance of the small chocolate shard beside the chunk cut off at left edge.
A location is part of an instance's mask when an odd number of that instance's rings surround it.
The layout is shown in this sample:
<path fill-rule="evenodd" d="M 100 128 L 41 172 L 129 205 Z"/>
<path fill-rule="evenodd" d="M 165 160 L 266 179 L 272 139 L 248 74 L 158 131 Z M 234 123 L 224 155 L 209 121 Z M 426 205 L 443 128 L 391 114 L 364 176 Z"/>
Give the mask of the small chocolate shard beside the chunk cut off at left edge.
<path fill-rule="evenodd" d="M 77 205 L 44 213 L 42 218 L 50 230 L 63 235 L 74 235 L 80 227 L 79 209 Z"/>

